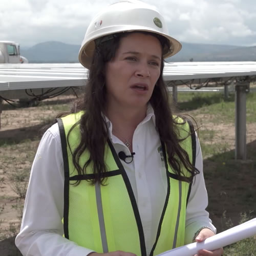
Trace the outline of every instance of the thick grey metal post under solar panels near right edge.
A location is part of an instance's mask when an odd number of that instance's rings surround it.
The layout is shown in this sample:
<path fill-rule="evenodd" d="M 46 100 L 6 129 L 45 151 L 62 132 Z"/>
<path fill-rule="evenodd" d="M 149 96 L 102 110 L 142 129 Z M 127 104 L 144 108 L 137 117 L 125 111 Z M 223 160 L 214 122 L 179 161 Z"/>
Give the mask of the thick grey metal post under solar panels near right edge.
<path fill-rule="evenodd" d="M 236 90 L 235 159 L 246 159 L 246 93 L 249 83 L 238 84 Z"/>

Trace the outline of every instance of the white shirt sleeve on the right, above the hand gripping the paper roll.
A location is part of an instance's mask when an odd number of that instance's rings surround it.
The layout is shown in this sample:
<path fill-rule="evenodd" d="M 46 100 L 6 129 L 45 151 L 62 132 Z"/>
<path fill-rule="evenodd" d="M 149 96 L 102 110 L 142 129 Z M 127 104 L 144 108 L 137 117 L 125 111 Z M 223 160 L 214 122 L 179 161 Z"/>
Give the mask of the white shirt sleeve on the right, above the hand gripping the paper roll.
<path fill-rule="evenodd" d="M 185 244 L 192 243 L 195 233 L 203 226 L 211 227 L 216 233 L 216 228 L 214 225 L 212 225 L 211 220 L 209 219 L 209 214 L 205 210 L 208 205 L 208 195 L 203 176 L 202 152 L 197 134 L 196 148 L 197 152 L 195 166 L 200 173 L 194 177 L 187 203 Z"/>

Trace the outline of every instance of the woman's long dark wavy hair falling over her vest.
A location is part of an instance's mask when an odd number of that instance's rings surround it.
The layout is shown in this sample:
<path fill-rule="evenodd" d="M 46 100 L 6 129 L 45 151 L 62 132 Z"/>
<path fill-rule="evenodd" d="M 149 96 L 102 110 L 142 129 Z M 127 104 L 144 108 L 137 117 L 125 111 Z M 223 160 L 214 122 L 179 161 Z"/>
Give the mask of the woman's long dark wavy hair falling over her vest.
<path fill-rule="evenodd" d="M 78 99 L 71 110 L 71 113 L 84 111 L 78 123 L 75 123 L 72 128 L 79 125 L 81 140 L 75 151 L 73 152 L 73 163 L 78 174 L 87 174 L 87 167 L 90 163 L 93 165 L 94 178 L 90 180 L 91 184 L 100 182 L 105 184 L 104 173 L 107 168 L 104 162 L 105 144 L 108 140 L 108 127 L 102 116 L 106 106 L 106 86 L 105 86 L 105 66 L 111 61 L 119 47 L 120 38 L 129 35 L 132 32 L 115 34 L 108 40 L 97 40 L 95 46 L 94 58 L 87 84 L 85 87 L 84 96 Z M 138 33 L 138 32 L 136 32 Z M 160 42 L 162 49 L 169 47 L 165 37 L 156 35 L 150 32 L 139 32 L 156 36 Z M 150 103 L 156 116 L 156 129 L 159 133 L 160 140 L 166 145 L 167 161 L 172 166 L 179 180 L 192 182 L 193 177 L 199 173 L 199 170 L 189 161 L 186 151 L 180 146 L 181 139 L 179 138 L 179 123 L 176 118 L 173 118 L 173 113 L 170 108 L 169 96 L 163 81 L 163 57 L 161 60 L 161 73 L 156 86 L 154 88 Z M 183 118 L 184 119 L 184 118 Z M 70 130 L 70 132 L 72 129 Z M 68 145 L 69 145 L 68 134 Z M 189 134 L 188 134 L 189 136 Z M 184 139 L 183 139 L 184 140 Z M 79 165 L 79 159 L 82 153 L 88 150 L 90 158 L 84 164 Z M 182 165 L 191 174 L 190 177 L 185 177 L 182 173 Z M 78 182 L 79 184 L 79 182 Z"/>

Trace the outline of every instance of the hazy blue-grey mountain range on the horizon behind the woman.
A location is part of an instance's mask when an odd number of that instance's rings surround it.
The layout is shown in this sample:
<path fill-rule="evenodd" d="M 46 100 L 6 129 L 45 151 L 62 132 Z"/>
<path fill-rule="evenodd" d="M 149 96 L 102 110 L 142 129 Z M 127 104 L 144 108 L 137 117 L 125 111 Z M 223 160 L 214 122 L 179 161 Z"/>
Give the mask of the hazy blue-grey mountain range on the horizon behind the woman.
<path fill-rule="evenodd" d="M 29 49 L 20 49 L 30 63 L 78 62 L 80 45 L 68 45 L 58 41 L 47 41 Z M 179 53 L 167 61 L 256 61 L 256 46 L 229 46 L 191 44 L 182 42 Z"/>

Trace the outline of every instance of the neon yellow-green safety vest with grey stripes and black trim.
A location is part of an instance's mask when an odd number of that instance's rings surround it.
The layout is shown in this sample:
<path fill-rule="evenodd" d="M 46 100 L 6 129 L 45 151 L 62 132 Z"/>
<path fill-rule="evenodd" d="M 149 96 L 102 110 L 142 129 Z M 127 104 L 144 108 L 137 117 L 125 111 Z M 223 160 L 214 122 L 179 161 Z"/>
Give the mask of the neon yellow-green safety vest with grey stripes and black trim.
<path fill-rule="evenodd" d="M 71 127 L 79 121 L 80 116 L 81 113 L 78 113 L 58 119 L 65 169 L 64 235 L 78 245 L 98 253 L 122 250 L 146 256 L 144 233 L 135 196 L 112 143 L 108 140 L 105 145 L 105 163 L 108 167 L 105 177 L 108 179 L 104 186 L 89 184 L 88 180 L 94 178 L 92 164 L 89 164 L 86 175 L 77 174 L 71 152 L 79 143 L 79 125 L 72 131 Z M 181 127 L 180 138 L 185 138 L 190 132 L 190 126 L 186 122 Z M 188 136 L 181 142 L 181 146 L 195 164 L 194 136 Z M 178 176 L 167 163 L 164 144 L 162 152 L 166 167 L 167 195 L 151 256 L 184 245 L 186 204 L 190 193 L 190 184 L 178 180 Z M 83 152 L 80 166 L 89 158 L 89 152 Z M 185 168 L 182 170 L 184 175 L 189 176 Z M 72 185 L 77 180 L 80 184 Z"/>

